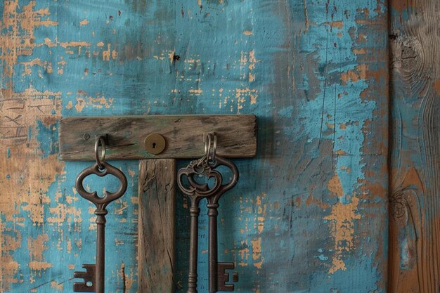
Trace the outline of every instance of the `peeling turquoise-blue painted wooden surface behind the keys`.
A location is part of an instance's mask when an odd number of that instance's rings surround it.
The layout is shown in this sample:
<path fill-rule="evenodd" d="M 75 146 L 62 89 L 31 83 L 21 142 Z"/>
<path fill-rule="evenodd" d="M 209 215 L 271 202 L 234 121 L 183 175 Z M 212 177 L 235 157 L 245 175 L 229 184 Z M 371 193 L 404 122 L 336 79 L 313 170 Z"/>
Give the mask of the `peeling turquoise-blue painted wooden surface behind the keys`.
<path fill-rule="evenodd" d="M 237 263 L 237 290 L 385 292 L 385 4 L 11 0 L 0 11 L 0 292 L 72 292 L 73 271 L 94 261 L 93 207 L 73 188 L 89 163 L 58 160 L 60 117 L 207 113 L 259 119 L 259 155 L 236 161 L 240 183 L 221 202 L 219 259 Z M 137 162 L 114 164 L 129 189 L 110 206 L 106 290 L 136 292 Z M 176 212 L 183 292 L 180 196 Z M 206 259 L 201 242 L 199 292 Z"/>

